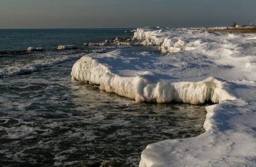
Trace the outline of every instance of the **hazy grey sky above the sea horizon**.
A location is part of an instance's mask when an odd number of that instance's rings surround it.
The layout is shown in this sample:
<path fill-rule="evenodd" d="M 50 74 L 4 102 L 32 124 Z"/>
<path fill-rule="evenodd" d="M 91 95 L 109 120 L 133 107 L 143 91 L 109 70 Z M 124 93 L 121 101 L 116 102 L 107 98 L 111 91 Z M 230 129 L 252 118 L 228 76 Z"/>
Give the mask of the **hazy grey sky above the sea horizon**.
<path fill-rule="evenodd" d="M 0 0 L 0 28 L 213 27 L 255 23 L 256 0 Z"/>

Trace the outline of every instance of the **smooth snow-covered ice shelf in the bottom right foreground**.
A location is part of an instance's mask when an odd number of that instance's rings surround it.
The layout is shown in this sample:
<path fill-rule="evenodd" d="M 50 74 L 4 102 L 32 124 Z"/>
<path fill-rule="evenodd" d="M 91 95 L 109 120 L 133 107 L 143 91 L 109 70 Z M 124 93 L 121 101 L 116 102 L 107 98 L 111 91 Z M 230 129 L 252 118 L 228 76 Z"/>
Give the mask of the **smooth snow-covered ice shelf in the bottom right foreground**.
<path fill-rule="evenodd" d="M 150 144 L 139 166 L 255 166 L 253 107 L 239 99 L 206 107 L 205 133 Z"/>

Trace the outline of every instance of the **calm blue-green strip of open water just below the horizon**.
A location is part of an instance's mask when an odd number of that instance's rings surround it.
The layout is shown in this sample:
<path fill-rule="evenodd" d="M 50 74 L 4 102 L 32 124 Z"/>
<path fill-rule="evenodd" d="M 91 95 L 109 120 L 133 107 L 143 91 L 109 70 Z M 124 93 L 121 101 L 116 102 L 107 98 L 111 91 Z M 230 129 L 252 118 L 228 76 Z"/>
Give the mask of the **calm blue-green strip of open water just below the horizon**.
<path fill-rule="evenodd" d="M 123 28 L 0 30 L 0 51 L 26 50 L 29 46 L 54 49 L 58 45 L 68 44 L 82 48 L 85 42 L 104 42 L 106 39 L 133 36 L 130 31 Z"/>

